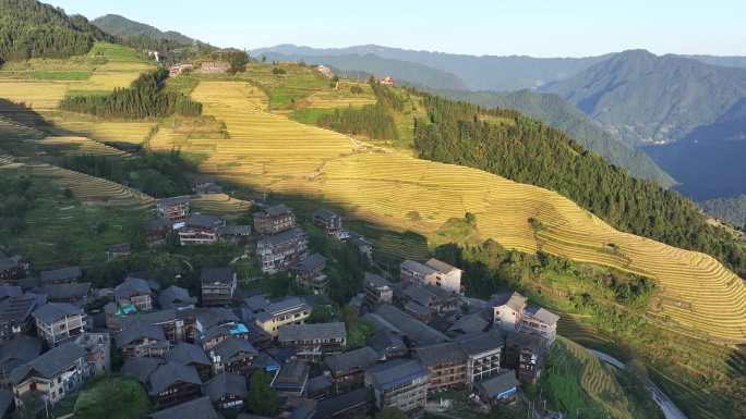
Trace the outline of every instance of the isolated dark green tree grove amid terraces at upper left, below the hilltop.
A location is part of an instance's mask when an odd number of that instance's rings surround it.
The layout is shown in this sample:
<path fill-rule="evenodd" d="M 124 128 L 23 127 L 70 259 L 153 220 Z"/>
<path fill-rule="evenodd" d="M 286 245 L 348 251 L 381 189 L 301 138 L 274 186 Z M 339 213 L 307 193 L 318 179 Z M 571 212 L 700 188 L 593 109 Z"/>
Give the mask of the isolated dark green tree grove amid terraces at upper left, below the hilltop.
<path fill-rule="evenodd" d="M 168 72 L 158 69 L 141 75 L 129 88 L 115 89 L 109 95 L 68 97 L 60 102 L 60 108 L 96 116 L 124 119 L 159 118 L 175 113 L 185 116 L 201 114 L 202 103 L 183 94 L 161 90 L 166 77 Z"/>

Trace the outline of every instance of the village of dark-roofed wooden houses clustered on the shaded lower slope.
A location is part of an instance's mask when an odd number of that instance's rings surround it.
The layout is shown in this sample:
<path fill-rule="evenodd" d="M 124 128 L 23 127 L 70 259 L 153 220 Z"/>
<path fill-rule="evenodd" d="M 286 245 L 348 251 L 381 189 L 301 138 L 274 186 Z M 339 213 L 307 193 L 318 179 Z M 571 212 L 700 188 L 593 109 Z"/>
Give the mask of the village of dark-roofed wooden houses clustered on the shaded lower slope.
<path fill-rule="evenodd" d="M 213 231 L 226 234 L 225 222 L 191 213 L 189 202 L 158 202 L 168 234 L 198 233 L 182 245 L 200 244 Z M 429 394 L 444 389 L 500 403 L 541 374 L 558 317 L 518 293 L 466 298 L 461 270 L 437 259 L 405 260 L 398 278 L 365 273 L 348 306 L 373 333 L 362 347 L 351 347 L 350 324 L 308 323 L 327 292 L 327 259 L 308 250 L 292 210 L 267 205 L 253 219 L 262 269 L 291 271 L 310 295 L 273 299 L 246 292 L 232 267 L 203 269 L 194 294 L 161 287 L 168 279 L 147 272 L 96 289 L 81 281 L 80 267 L 24 278 L 29 264 L 23 258 L 0 255 L 0 409 L 32 396 L 44 400 L 41 407 L 59 403 L 89 377 L 111 372 L 111 348 L 124 358 L 119 372 L 140 381 L 153 399 L 151 417 L 163 419 L 251 411 L 244 400 L 257 371 L 269 375 L 287 418 L 364 417 L 386 407 L 416 417 Z M 320 209 L 313 223 L 373 257 L 371 244 L 345 231 L 335 212 Z M 249 236 L 252 226 L 228 230 Z M 125 250 L 110 249 L 116 257 Z M 108 300 L 103 309 L 92 309 L 101 299 Z"/>

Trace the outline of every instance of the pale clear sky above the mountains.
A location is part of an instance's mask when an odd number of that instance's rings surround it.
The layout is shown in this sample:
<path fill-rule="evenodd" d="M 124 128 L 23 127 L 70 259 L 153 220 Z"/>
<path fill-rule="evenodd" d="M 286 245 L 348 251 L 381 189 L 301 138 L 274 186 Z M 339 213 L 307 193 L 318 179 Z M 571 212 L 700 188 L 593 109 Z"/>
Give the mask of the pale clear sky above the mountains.
<path fill-rule="evenodd" d="M 219 47 L 388 47 L 468 54 L 582 57 L 633 48 L 746 56 L 745 0 L 51 0 L 121 14 Z"/>

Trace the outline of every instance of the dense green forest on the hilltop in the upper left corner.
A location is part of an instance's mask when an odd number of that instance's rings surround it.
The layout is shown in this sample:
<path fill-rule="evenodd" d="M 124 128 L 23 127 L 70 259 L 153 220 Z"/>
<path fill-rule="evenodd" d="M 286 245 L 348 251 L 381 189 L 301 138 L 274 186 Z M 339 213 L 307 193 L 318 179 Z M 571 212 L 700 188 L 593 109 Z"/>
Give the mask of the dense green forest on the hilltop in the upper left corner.
<path fill-rule="evenodd" d="M 29 58 L 88 52 L 96 40 L 113 40 L 83 16 L 68 16 L 35 0 L 0 0 L 0 64 Z"/>

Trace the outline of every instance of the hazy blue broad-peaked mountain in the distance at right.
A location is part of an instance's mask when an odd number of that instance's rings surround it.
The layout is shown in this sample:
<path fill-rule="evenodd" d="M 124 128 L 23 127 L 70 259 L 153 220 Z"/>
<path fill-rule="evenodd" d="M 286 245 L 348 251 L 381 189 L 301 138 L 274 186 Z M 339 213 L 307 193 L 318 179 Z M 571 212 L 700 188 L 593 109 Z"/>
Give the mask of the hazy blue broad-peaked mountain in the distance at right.
<path fill-rule="evenodd" d="M 560 95 L 629 143 L 671 143 L 715 123 L 745 98 L 746 69 L 631 50 L 540 90 Z"/>

